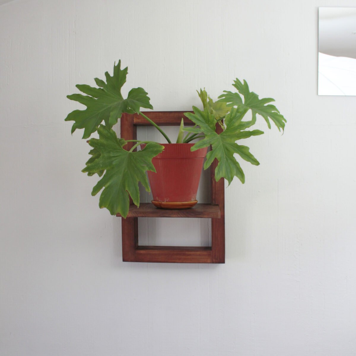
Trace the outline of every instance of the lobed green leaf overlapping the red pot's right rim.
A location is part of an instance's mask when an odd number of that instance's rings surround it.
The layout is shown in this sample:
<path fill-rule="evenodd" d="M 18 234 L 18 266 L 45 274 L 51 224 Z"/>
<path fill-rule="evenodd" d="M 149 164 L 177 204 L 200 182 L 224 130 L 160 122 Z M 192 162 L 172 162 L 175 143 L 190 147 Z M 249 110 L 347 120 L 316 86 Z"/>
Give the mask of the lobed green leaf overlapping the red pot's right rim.
<path fill-rule="evenodd" d="M 247 146 L 241 146 L 235 143 L 236 140 L 248 138 L 251 136 L 257 136 L 263 134 L 260 130 L 245 130 L 245 123 L 242 122 L 242 117 L 239 110 L 232 108 L 231 112 L 225 117 L 226 129 L 217 134 L 215 132 L 215 126 L 211 125 L 214 120 L 213 114 L 210 114 L 207 109 L 204 111 L 193 107 L 194 114 L 185 113 L 190 120 L 199 125 L 201 131 L 205 134 L 205 138 L 198 141 L 193 147 L 192 151 L 199 148 L 204 148 L 211 145 L 211 151 L 206 155 L 206 161 L 204 169 L 207 169 L 216 158 L 219 163 L 215 169 L 215 180 L 219 181 L 224 177 L 229 185 L 234 178 L 238 177 L 242 183 L 245 182 L 245 175 L 242 171 L 239 162 L 236 161 L 234 154 L 237 153 L 242 159 L 258 165 L 259 162 L 250 153 L 250 149 Z"/>

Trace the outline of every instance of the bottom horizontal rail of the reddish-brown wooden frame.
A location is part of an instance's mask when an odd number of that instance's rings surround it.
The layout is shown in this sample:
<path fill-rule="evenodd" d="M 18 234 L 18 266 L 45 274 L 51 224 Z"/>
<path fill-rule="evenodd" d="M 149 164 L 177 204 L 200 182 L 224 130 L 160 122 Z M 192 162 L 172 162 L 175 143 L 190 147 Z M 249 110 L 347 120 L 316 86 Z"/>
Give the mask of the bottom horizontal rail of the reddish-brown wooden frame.
<path fill-rule="evenodd" d="M 211 263 L 211 247 L 138 246 L 136 262 Z"/>

